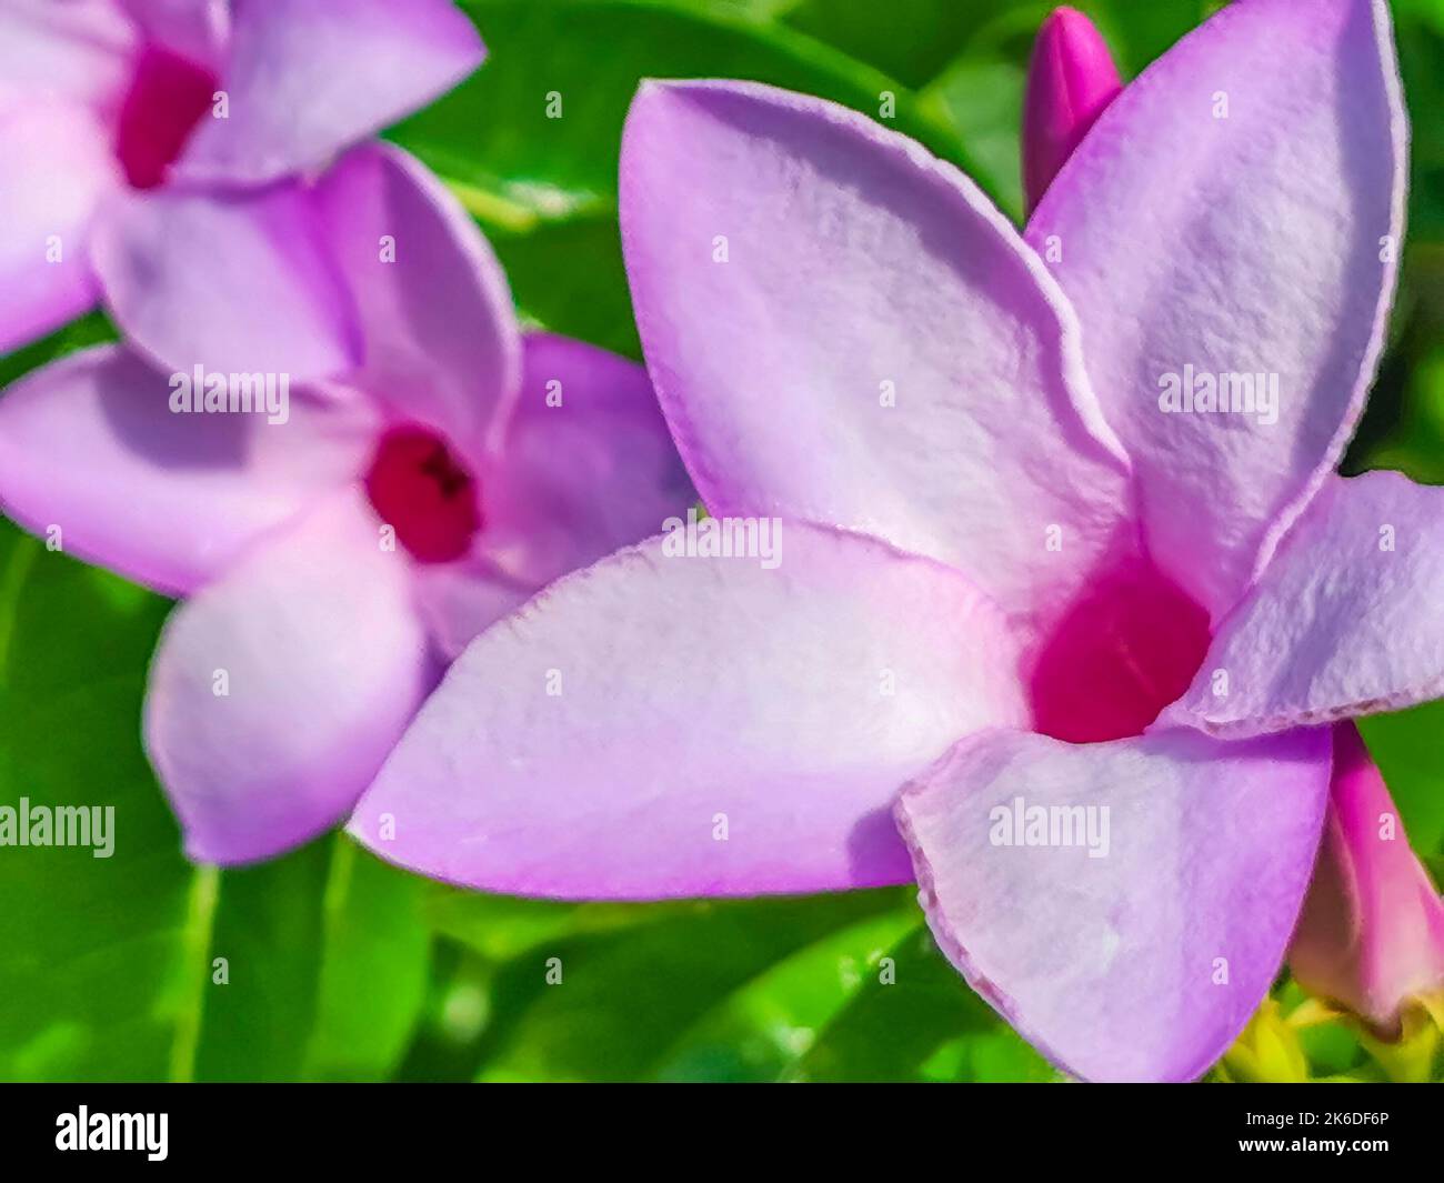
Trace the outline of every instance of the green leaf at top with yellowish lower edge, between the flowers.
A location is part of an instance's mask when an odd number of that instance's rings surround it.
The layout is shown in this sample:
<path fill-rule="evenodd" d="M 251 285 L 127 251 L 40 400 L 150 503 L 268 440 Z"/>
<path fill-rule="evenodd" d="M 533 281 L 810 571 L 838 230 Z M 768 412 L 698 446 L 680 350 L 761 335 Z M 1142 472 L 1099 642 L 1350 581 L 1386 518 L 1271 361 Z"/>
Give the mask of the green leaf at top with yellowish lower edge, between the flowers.
<path fill-rule="evenodd" d="M 781 27 L 645 0 L 468 0 L 490 46 L 468 81 L 390 136 L 458 188 L 487 224 L 615 209 L 617 153 L 644 78 L 745 78 L 832 98 L 960 159 L 946 129 L 877 71 Z M 557 103 L 560 108 L 557 110 Z"/>

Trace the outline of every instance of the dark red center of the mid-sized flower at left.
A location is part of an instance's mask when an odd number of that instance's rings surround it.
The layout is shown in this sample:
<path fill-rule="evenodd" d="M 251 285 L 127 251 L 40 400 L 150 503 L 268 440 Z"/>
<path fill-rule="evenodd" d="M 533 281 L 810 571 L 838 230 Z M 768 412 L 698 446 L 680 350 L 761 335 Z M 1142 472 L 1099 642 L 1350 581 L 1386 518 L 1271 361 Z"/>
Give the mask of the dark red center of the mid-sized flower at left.
<path fill-rule="evenodd" d="M 365 491 L 401 546 L 423 563 L 459 559 L 481 529 L 471 471 L 442 436 L 416 423 L 381 436 L 365 474 Z"/>

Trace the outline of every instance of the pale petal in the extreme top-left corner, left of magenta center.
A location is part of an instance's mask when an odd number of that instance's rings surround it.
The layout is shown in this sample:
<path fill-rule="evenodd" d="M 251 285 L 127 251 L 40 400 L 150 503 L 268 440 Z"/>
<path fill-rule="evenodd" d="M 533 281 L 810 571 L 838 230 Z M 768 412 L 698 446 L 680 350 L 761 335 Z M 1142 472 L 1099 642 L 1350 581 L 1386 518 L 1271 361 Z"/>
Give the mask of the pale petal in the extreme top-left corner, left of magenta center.
<path fill-rule="evenodd" d="M 48 98 L 111 111 L 130 84 L 134 42 L 136 30 L 114 0 L 6 0 L 0 108 Z"/>

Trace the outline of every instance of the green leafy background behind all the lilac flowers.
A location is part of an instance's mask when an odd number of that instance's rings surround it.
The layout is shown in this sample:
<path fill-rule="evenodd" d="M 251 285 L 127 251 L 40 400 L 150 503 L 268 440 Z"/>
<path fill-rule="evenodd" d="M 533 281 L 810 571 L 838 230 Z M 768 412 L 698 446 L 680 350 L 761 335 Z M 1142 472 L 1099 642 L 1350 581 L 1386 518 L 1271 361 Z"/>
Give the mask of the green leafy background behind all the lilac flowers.
<path fill-rule="evenodd" d="M 1216 4 L 1079 7 L 1135 74 Z M 617 147 L 644 77 L 774 82 L 877 114 L 1021 215 L 1030 0 L 466 0 L 491 56 L 394 129 L 491 237 L 529 322 L 640 357 Z M 1395 0 L 1414 186 L 1393 345 L 1347 467 L 1444 482 L 1444 0 Z M 547 92 L 563 118 L 544 117 Z M 0 381 L 105 339 L 103 316 Z M 947 968 L 911 888 L 654 906 L 430 884 L 328 838 L 240 871 L 188 864 L 139 742 L 166 601 L 0 521 L 0 802 L 114 805 L 111 859 L 0 851 L 0 1079 L 1047 1080 Z M 1415 846 L 1444 852 L 1444 703 L 1366 727 Z M 1437 865 L 1437 862 L 1435 862 Z M 879 984 L 884 956 L 895 984 Z M 228 982 L 214 981 L 225 958 Z M 549 959 L 563 982 L 549 985 Z M 1216 1078 L 1376 1079 L 1281 985 Z M 1288 1044 L 1276 1049 L 1279 1040 Z M 1264 1049 L 1262 1052 L 1259 1049 Z"/>

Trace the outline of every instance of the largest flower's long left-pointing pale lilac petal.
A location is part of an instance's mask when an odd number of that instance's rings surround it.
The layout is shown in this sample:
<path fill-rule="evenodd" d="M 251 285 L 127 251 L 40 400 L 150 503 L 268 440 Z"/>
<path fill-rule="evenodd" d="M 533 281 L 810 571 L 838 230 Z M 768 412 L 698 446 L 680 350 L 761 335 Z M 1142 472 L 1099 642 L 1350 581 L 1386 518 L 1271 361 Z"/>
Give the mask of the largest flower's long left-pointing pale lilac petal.
<path fill-rule="evenodd" d="M 791 523 L 783 542 L 767 569 L 653 539 L 543 592 L 451 667 L 351 832 L 520 894 L 905 880 L 888 805 L 957 735 L 1025 718 L 1017 649 L 937 563 Z"/>

